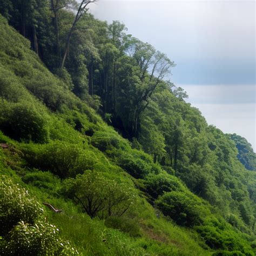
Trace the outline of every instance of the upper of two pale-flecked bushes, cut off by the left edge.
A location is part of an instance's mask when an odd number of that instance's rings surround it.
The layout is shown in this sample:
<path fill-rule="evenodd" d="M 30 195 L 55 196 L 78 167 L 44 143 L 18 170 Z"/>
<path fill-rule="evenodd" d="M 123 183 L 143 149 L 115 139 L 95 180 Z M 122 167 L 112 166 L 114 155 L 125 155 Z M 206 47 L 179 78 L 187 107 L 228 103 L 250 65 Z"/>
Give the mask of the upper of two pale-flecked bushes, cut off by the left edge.
<path fill-rule="evenodd" d="M 21 220 L 35 223 L 43 213 L 43 207 L 28 190 L 15 184 L 10 178 L 3 176 L 0 182 L 0 226 L 1 235 L 8 233 Z"/>

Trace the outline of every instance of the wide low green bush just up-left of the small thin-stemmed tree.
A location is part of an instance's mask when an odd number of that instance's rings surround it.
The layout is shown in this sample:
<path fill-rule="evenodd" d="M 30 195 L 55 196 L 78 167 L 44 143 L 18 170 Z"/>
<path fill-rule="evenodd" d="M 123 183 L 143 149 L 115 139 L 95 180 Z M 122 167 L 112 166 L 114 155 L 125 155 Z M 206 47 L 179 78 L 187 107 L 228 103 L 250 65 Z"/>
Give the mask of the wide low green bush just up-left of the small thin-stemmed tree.
<path fill-rule="evenodd" d="M 36 148 L 26 146 L 24 152 L 32 167 L 51 171 L 60 178 L 76 177 L 78 173 L 92 170 L 97 161 L 92 151 L 58 140 Z"/>

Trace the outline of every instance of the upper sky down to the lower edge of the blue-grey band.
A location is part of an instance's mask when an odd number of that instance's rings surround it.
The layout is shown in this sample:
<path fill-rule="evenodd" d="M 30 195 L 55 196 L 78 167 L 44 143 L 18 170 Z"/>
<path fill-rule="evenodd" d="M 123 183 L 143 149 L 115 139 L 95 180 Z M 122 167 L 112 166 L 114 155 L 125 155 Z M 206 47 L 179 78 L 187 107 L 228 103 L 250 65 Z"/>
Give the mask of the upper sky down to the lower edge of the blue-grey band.
<path fill-rule="evenodd" d="M 255 83 L 254 1 L 99 0 L 92 12 L 166 53 L 174 83 Z"/>

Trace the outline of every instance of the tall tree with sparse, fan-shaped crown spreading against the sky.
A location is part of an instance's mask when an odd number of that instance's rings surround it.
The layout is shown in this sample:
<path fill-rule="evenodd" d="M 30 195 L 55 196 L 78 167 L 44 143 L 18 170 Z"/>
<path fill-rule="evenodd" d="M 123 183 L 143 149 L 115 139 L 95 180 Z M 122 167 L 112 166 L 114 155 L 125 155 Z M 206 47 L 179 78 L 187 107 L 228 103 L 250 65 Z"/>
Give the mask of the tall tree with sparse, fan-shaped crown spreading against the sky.
<path fill-rule="evenodd" d="M 130 136 L 137 137 L 140 117 L 149 105 L 152 93 L 164 77 L 171 74 L 171 68 L 175 64 L 164 53 L 156 51 L 152 45 L 143 43 L 137 38 L 130 38 L 127 52 L 132 62 L 129 60 L 128 70 L 123 73 L 125 77 L 122 77 L 123 74 L 120 73 L 120 80 L 127 84 L 125 89 L 122 86 L 121 93 L 126 94 L 125 102 L 132 110 L 129 119 L 131 125 L 128 127 Z M 129 97 L 127 97 L 128 93 Z"/>

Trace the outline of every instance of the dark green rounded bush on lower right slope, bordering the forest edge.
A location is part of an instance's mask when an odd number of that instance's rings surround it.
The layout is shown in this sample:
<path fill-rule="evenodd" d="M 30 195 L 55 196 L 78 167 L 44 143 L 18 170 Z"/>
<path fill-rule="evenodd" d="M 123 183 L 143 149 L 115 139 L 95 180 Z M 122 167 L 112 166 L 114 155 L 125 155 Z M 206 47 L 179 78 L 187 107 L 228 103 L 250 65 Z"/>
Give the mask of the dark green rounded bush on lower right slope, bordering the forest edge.
<path fill-rule="evenodd" d="M 203 222 L 204 210 L 199 204 L 199 200 L 178 191 L 167 192 L 156 200 L 157 207 L 181 226 L 194 226 Z"/>

